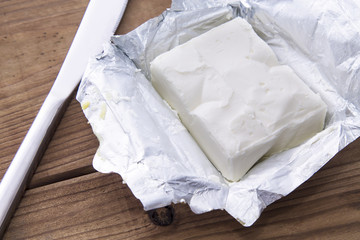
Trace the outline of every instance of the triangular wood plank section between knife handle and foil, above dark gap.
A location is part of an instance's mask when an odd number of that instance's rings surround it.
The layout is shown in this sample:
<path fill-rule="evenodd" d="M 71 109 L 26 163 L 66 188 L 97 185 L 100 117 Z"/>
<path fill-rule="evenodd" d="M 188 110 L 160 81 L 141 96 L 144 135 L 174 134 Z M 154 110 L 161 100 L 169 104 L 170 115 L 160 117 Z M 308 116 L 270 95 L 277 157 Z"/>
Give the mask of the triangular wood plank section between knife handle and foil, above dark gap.
<path fill-rule="evenodd" d="M 76 99 L 72 99 L 51 139 L 29 188 L 95 172 L 92 159 L 98 140 Z"/>

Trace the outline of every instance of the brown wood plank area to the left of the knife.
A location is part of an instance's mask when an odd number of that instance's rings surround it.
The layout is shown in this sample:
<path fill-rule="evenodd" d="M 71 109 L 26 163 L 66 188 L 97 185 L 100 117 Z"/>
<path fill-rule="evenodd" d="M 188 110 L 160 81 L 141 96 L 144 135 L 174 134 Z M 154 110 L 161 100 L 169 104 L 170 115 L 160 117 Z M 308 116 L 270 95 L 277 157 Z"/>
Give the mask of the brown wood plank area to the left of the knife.
<path fill-rule="evenodd" d="M 59 72 L 87 3 L 0 1 L 0 178 Z"/>

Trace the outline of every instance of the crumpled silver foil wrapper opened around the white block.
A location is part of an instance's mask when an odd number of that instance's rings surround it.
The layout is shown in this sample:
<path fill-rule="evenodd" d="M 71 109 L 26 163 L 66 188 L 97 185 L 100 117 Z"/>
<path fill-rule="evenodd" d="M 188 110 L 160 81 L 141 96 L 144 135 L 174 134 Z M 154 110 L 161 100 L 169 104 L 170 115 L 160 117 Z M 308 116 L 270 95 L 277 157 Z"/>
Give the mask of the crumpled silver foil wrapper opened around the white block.
<path fill-rule="evenodd" d="M 145 210 L 186 202 L 195 213 L 224 209 L 251 226 L 359 137 L 359 12 L 351 0 L 174 0 L 160 16 L 114 36 L 88 64 L 77 99 L 100 142 L 95 169 L 119 173 Z M 322 132 L 229 183 L 151 86 L 149 63 L 238 16 L 322 97 L 328 113 Z"/>

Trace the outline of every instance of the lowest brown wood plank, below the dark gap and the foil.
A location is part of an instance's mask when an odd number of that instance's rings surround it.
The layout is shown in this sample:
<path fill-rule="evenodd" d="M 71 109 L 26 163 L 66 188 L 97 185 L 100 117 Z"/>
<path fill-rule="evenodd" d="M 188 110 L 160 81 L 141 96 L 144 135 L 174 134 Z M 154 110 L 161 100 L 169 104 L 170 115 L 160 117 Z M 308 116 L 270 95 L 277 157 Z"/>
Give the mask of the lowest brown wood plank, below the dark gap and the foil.
<path fill-rule="evenodd" d="M 360 141 L 270 205 L 249 228 L 224 211 L 175 205 L 154 225 L 121 177 L 92 173 L 28 190 L 4 239 L 359 239 Z"/>

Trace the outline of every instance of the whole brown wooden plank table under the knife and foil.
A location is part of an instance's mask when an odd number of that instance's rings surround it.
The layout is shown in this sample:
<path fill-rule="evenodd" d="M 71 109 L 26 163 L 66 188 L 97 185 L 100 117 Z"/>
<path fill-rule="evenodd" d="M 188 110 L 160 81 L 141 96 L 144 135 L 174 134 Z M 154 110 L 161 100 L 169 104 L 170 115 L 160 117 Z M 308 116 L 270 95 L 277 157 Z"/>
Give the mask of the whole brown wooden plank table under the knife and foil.
<path fill-rule="evenodd" d="M 87 0 L 0 1 L 0 178 L 69 49 Z M 117 33 L 157 16 L 170 0 L 131 0 Z M 154 225 L 121 177 L 91 166 L 98 146 L 73 98 L 5 239 L 360 239 L 360 139 L 250 228 L 224 211 L 175 205 Z M 1 204 L 1 203 L 0 203 Z"/>

